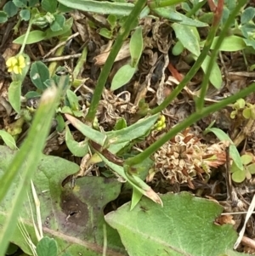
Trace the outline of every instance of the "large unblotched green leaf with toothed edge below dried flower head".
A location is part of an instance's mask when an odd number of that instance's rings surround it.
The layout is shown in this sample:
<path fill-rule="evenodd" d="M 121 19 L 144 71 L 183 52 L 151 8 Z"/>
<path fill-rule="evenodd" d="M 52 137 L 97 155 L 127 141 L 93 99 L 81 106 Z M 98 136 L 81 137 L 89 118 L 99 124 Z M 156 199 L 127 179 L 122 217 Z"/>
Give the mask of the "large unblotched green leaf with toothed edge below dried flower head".
<path fill-rule="evenodd" d="M 128 202 L 105 216 L 118 230 L 128 255 L 236 254 L 233 245 L 237 234 L 233 227 L 214 224 L 223 212 L 218 203 L 187 192 L 161 195 L 161 200 L 163 208 L 143 197 L 133 211 L 129 211 Z"/>

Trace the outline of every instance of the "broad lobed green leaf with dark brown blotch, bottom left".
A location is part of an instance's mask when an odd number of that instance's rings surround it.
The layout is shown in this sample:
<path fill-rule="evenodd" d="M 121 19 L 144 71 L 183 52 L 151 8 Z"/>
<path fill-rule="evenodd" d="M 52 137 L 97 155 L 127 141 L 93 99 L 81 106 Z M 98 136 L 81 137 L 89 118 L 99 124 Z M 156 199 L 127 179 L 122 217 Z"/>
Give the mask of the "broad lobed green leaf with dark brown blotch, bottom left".
<path fill-rule="evenodd" d="M 13 158 L 14 151 L 0 145 L 0 177 L 8 172 L 8 165 Z M 58 244 L 58 255 L 79 255 L 79 253 L 85 255 L 86 252 L 86 255 L 102 256 L 105 226 L 106 255 L 127 256 L 116 230 L 107 225 L 104 219 L 105 205 L 116 199 L 122 184 L 116 179 L 82 177 L 72 184 L 74 185 L 72 190 L 71 183 L 63 182 L 63 180 L 77 174 L 79 166 L 76 163 L 57 156 L 41 156 L 39 159 L 33 183 L 40 201 L 43 235 L 55 239 Z M 6 200 L 0 204 L 1 226 L 12 208 L 15 185 L 19 179 L 17 175 L 12 190 L 9 191 Z M 37 220 L 37 215 L 31 189 L 28 190 L 28 195 L 30 202 L 26 197 L 26 202 L 23 203 L 19 214 L 24 220 L 23 225 L 25 225 L 29 238 L 37 245 L 32 223 L 32 217 Z M 15 230 L 11 241 L 19 245 L 26 254 L 33 255 L 20 229 Z"/>

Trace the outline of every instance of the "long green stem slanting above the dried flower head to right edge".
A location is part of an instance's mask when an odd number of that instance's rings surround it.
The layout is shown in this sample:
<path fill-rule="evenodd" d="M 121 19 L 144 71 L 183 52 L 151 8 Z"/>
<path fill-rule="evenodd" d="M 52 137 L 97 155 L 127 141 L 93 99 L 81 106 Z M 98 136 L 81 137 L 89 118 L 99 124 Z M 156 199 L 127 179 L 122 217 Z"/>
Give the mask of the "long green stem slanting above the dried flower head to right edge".
<path fill-rule="evenodd" d="M 172 139 L 176 134 L 188 128 L 193 123 L 197 122 L 203 117 L 207 117 L 209 114 L 215 111 L 219 111 L 224 108 L 226 105 L 229 105 L 235 102 L 238 99 L 246 97 L 246 95 L 251 94 L 255 91 L 255 82 L 253 82 L 248 88 L 241 90 L 238 94 L 230 96 L 229 98 L 222 100 L 216 104 L 207 106 L 206 108 L 202 109 L 200 112 L 195 112 L 190 117 L 184 120 L 184 122 L 180 122 L 178 125 L 171 128 L 167 134 L 165 134 L 161 139 L 158 139 L 155 143 L 150 145 L 145 151 L 140 153 L 137 156 L 130 157 L 126 160 L 125 165 L 131 167 L 139 162 L 144 161 L 147 157 L 150 157 L 153 153 L 155 153 L 161 145 L 164 145 L 169 139 Z"/>

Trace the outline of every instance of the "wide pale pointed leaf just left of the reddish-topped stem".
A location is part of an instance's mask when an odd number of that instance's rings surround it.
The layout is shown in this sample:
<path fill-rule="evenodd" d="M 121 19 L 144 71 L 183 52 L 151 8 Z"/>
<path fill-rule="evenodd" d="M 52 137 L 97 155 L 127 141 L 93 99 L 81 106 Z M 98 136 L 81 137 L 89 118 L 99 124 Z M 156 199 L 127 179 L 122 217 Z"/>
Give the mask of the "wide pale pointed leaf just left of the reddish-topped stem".
<path fill-rule="evenodd" d="M 176 37 L 183 44 L 184 48 L 187 48 L 190 53 L 198 56 L 200 54 L 199 38 L 194 29 L 178 23 L 173 23 L 172 27 Z"/>

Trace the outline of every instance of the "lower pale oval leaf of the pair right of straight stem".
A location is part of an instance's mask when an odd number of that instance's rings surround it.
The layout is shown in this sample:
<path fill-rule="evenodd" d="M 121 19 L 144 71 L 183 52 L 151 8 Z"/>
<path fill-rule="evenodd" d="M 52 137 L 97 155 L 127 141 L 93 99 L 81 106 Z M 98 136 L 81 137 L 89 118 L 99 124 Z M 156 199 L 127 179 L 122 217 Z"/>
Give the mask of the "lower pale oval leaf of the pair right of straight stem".
<path fill-rule="evenodd" d="M 129 82 L 135 71 L 136 67 L 133 67 L 129 64 L 122 65 L 122 67 L 116 71 L 116 74 L 112 79 L 111 90 L 114 91 L 118 88 L 121 88 L 124 84 Z"/>

